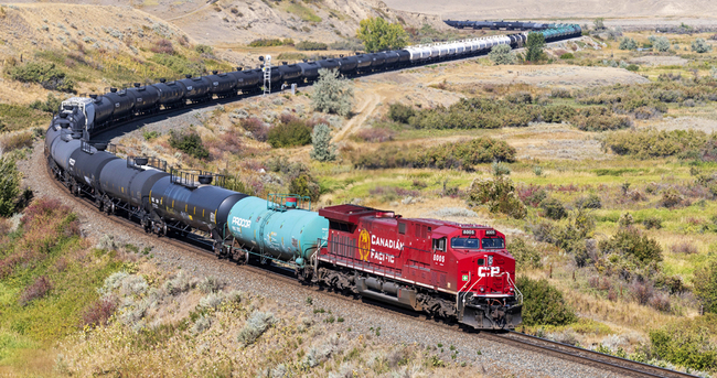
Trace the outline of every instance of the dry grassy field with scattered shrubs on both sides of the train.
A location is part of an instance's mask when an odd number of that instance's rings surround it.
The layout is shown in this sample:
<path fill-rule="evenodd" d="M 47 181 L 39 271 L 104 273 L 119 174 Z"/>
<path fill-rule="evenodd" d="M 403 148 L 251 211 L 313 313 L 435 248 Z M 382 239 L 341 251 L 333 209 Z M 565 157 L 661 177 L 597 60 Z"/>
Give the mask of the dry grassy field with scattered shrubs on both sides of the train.
<path fill-rule="evenodd" d="M 147 2 L 139 8 L 150 11 L 162 4 Z M 237 64 L 252 66 L 256 55 L 266 53 L 287 61 L 317 53 L 285 43 L 291 33 L 275 33 L 272 36 L 281 35 L 278 45 L 258 46 L 264 42 L 257 42 L 254 47 L 247 46 L 265 34 L 244 33 L 242 41 L 208 47 L 196 43 L 201 39 L 139 10 L 120 17 L 117 8 L 74 6 L 71 10 L 86 18 L 113 18 L 107 24 L 97 21 L 79 29 L 64 21 L 61 10 L 13 7 L 2 7 L 2 18 L 14 24 L 3 24 L 0 30 L 17 44 L 0 48 L 8 84 L 0 89 L 0 97 L 10 102 L 0 107 L 0 147 L 18 159 L 26 155 L 23 148 L 39 134 L 35 128 L 44 128 L 53 105 L 73 93 L 97 93 L 106 86 L 160 76 L 227 71 Z M 50 10 L 52 7 L 56 6 Z M 178 7 L 182 11 L 172 15 L 179 20 L 182 13 L 214 12 L 216 17 L 242 18 L 233 7 L 225 1 L 196 10 Z M 365 13 L 355 9 L 341 13 L 298 2 L 263 2 L 259 8 L 261 12 L 292 14 L 295 28 L 329 19 L 354 20 Z M 692 14 L 691 9 L 685 8 L 685 14 Z M 120 23 L 119 18 L 131 26 L 108 26 Z M 419 26 L 420 19 L 411 22 L 416 25 L 410 36 L 414 43 L 468 35 L 451 34 L 438 24 Z M 29 24 L 41 26 L 29 29 L 24 41 L 12 33 L 13 28 Z M 193 25 L 195 29 L 188 26 L 192 35 L 204 33 Z M 302 87 L 296 96 L 275 93 L 186 112 L 114 141 L 122 154 L 156 155 L 174 166 L 221 172 L 235 190 L 257 196 L 295 192 L 310 195 L 314 208 L 354 203 L 390 208 L 405 217 L 494 226 L 509 235 L 509 249 L 520 260 L 521 276 L 545 279 L 563 293 L 567 307 L 577 315 L 577 321 L 567 324 L 526 324 L 524 331 L 714 374 L 709 358 L 717 360 L 717 341 L 715 333 L 705 334 L 709 325 L 705 328 L 700 323 L 714 317 L 702 316 L 710 311 L 710 302 L 704 299 L 700 284 L 709 274 L 704 272 L 715 266 L 717 252 L 717 51 L 711 32 L 691 33 L 685 26 L 678 26 L 684 33 L 660 34 L 670 41 L 670 50 L 662 53 L 651 50 L 653 32 L 603 30 L 550 44 L 539 64 L 496 66 L 482 57 L 354 78 L 347 82 L 354 98 L 346 117 L 315 111 L 315 90 Z M 341 28 L 322 29 L 322 33 L 347 36 Z M 55 34 L 67 39 L 51 39 Z M 484 33 L 471 35 L 479 34 Z M 645 50 L 620 50 L 623 37 L 633 39 Z M 697 37 L 705 39 L 711 51 L 693 52 Z M 327 54 L 351 53 L 352 46 L 344 40 L 350 39 L 336 39 L 341 43 L 330 45 Z M 32 41 L 44 42 L 46 47 L 32 47 Z M 20 51 L 28 53 L 21 57 Z M 42 76 L 36 75 L 41 68 L 46 72 L 43 75 L 54 75 L 52 80 L 36 77 Z M 67 90 L 64 86 L 69 84 L 74 88 Z M 322 123 L 331 130 L 336 153 L 332 161 L 310 158 L 310 134 Z M 500 141 L 505 144 L 495 143 L 495 151 L 503 149 L 505 153 L 494 159 L 477 158 L 463 148 L 474 145 L 467 144 L 472 141 Z M 500 210 L 504 207 L 492 206 L 491 198 L 481 199 L 477 194 L 477 185 L 499 180 L 510 183 L 509 196 L 520 199 L 523 213 Z M 53 206 L 47 212 L 58 210 Z M 29 242 L 19 216 L 15 220 L 2 219 L 0 225 L 12 229 L 0 239 L 2 261 L 10 261 L 8 266 L 14 259 L 36 262 L 0 277 L 0 285 L 8 289 L 0 298 L 7 315 L 0 322 L 0 365 L 8 366 L 8 371 L 34 372 L 28 366 L 28 356 L 54 366 L 58 375 L 79 372 L 84 366 L 92 366 L 92 374 L 108 372 L 103 365 L 114 366 L 117 374 L 141 375 L 156 369 L 171 375 L 172 368 L 162 365 L 170 357 L 185 358 L 200 375 L 247 364 L 254 364 L 254 370 L 261 364 L 277 365 L 280 359 L 271 354 L 261 354 L 266 359 L 233 357 L 228 366 L 225 358 L 196 364 L 200 355 L 247 344 L 247 338 L 234 335 L 255 334 L 256 330 L 243 331 L 250 322 L 263 330 L 257 338 L 266 331 L 266 339 L 279 343 L 280 348 L 272 354 L 298 349 L 296 357 L 281 359 L 282 367 L 274 366 L 279 370 L 306 371 L 302 369 L 322 364 L 328 374 L 373 358 L 365 355 L 368 352 L 361 341 L 352 341 L 351 349 L 341 349 L 335 358 L 329 357 L 335 350 L 322 356 L 325 350 L 317 345 L 346 342 L 340 336 L 329 339 L 329 334 L 341 330 L 321 317 L 323 313 L 317 315 L 319 321 L 306 322 L 301 313 L 279 316 L 279 311 L 261 299 L 236 296 L 211 282 L 202 283 L 208 285 L 202 289 L 200 282 L 183 282 L 178 272 L 157 271 L 147 253 L 137 259 L 137 247 L 131 245 L 94 248 L 68 226 L 74 222 L 68 210 L 58 212 L 67 216 L 64 224 L 45 219 L 33 226 L 58 233 L 47 240 L 51 247 L 31 246 L 49 248 L 43 249 L 46 253 L 42 258 L 15 248 Z M 63 267 L 64 260 L 77 262 Z M 90 276 L 77 273 L 89 268 Z M 115 276 L 118 271 L 129 276 Z M 57 285 L 45 296 L 42 277 L 71 282 L 77 289 Z M 109 277 L 115 279 L 107 281 Z M 117 285 L 111 287 L 113 282 Z M 128 289 L 133 284 L 141 290 Z M 178 284 L 185 289 L 173 291 L 172 285 Z M 85 315 L 104 311 L 96 292 L 101 288 L 104 294 L 115 295 L 115 305 L 121 304 L 124 317 L 90 332 L 87 327 L 93 328 L 92 322 Z M 38 292 L 42 294 L 30 299 Z M 76 298 L 96 306 L 72 304 L 71 299 Z M 42 305 L 25 311 L 30 301 Z M 62 330 L 49 325 L 56 320 L 47 317 L 47 309 L 65 314 Z M 315 332 L 311 328 L 317 325 L 314 321 L 321 323 Z M 151 332 L 136 332 L 151 322 L 158 325 Z M 691 353 L 703 359 L 681 359 L 676 347 L 661 349 L 657 336 L 675 327 L 697 330 L 684 334 L 688 341 L 684 344 L 695 343 L 696 349 Z M 310 335 L 306 336 L 306 347 L 293 342 L 295 336 L 304 334 Z M 188 341 L 201 346 L 193 348 L 195 354 L 183 354 Z M 62 358 L 52 349 L 57 342 L 66 350 Z M 145 342 L 167 349 L 151 348 L 146 365 L 137 355 L 126 354 L 129 346 Z M 208 346 L 202 346 L 205 344 Z M 94 352 L 106 345 L 113 354 L 98 356 Z M 383 365 L 362 370 L 364 374 L 406 372 L 406 359 L 415 360 L 415 369 L 426 374 L 437 374 L 435 368 L 442 366 L 436 360 L 439 357 L 411 347 L 389 343 L 378 347 L 395 355 L 396 360 L 382 360 Z"/>

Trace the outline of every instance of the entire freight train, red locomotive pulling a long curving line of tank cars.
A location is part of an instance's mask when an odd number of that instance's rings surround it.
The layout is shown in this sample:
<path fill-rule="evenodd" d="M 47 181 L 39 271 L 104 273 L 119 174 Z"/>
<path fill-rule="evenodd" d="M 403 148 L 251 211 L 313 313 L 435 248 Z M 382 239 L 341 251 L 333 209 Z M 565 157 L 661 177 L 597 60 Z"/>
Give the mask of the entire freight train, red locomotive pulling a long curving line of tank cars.
<path fill-rule="evenodd" d="M 539 32 L 574 37 L 577 25 Z M 547 34 L 550 32 L 550 34 Z M 128 120 L 261 90 L 310 84 L 319 69 L 355 76 L 474 56 L 499 44 L 518 46 L 527 33 L 435 43 L 261 69 L 237 69 L 115 89 L 62 102 L 45 134 L 47 166 L 98 210 L 136 220 L 158 236 L 202 235 L 215 255 L 289 267 L 298 280 L 448 318 L 478 330 L 513 328 L 522 321 L 515 259 L 492 227 L 403 218 L 356 205 L 311 210 L 308 197 L 267 199 L 229 191 L 210 172 L 179 171 L 160 159 L 127 156 L 87 140 Z M 266 75 L 265 75 L 266 74 Z"/>

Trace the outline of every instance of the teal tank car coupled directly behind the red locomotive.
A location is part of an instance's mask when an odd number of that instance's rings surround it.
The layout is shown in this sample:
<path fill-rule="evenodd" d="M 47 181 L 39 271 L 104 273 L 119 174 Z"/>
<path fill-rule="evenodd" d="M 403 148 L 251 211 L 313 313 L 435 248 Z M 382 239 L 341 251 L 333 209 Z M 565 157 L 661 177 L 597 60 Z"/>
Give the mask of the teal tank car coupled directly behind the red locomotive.
<path fill-rule="evenodd" d="M 227 228 L 252 255 L 303 266 L 329 233 L 327 218 L 300 208 L 308 199 L 292 195 L 269 195 L 269 201 L 246 197 L 232 207 Z"/>

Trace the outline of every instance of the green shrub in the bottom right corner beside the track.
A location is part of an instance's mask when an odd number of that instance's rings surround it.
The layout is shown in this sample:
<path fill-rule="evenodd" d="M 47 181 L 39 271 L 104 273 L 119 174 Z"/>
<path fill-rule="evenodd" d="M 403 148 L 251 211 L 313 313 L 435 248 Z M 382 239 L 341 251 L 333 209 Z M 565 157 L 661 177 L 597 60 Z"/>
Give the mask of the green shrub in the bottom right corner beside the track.
<path fill-rule="evenodd" d="M 650 332 L 651 352 L 660 359 L 698 370 L 714 370 L 717 366 L 717 315 L 673 322 Z"/>

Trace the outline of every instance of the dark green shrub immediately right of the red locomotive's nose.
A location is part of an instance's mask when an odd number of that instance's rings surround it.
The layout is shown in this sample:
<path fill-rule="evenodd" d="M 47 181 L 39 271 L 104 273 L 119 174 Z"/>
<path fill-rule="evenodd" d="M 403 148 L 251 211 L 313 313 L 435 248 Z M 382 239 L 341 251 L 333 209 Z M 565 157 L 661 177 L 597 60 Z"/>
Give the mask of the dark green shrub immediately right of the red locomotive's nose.
<path fill-rule="evenodd" d="M 523 293 L 523 323 L 525 325 L 566 325 L 578 320 L 565 303 L 563 293 L 546 279 L 521 277 L 515 285 Z"/>

